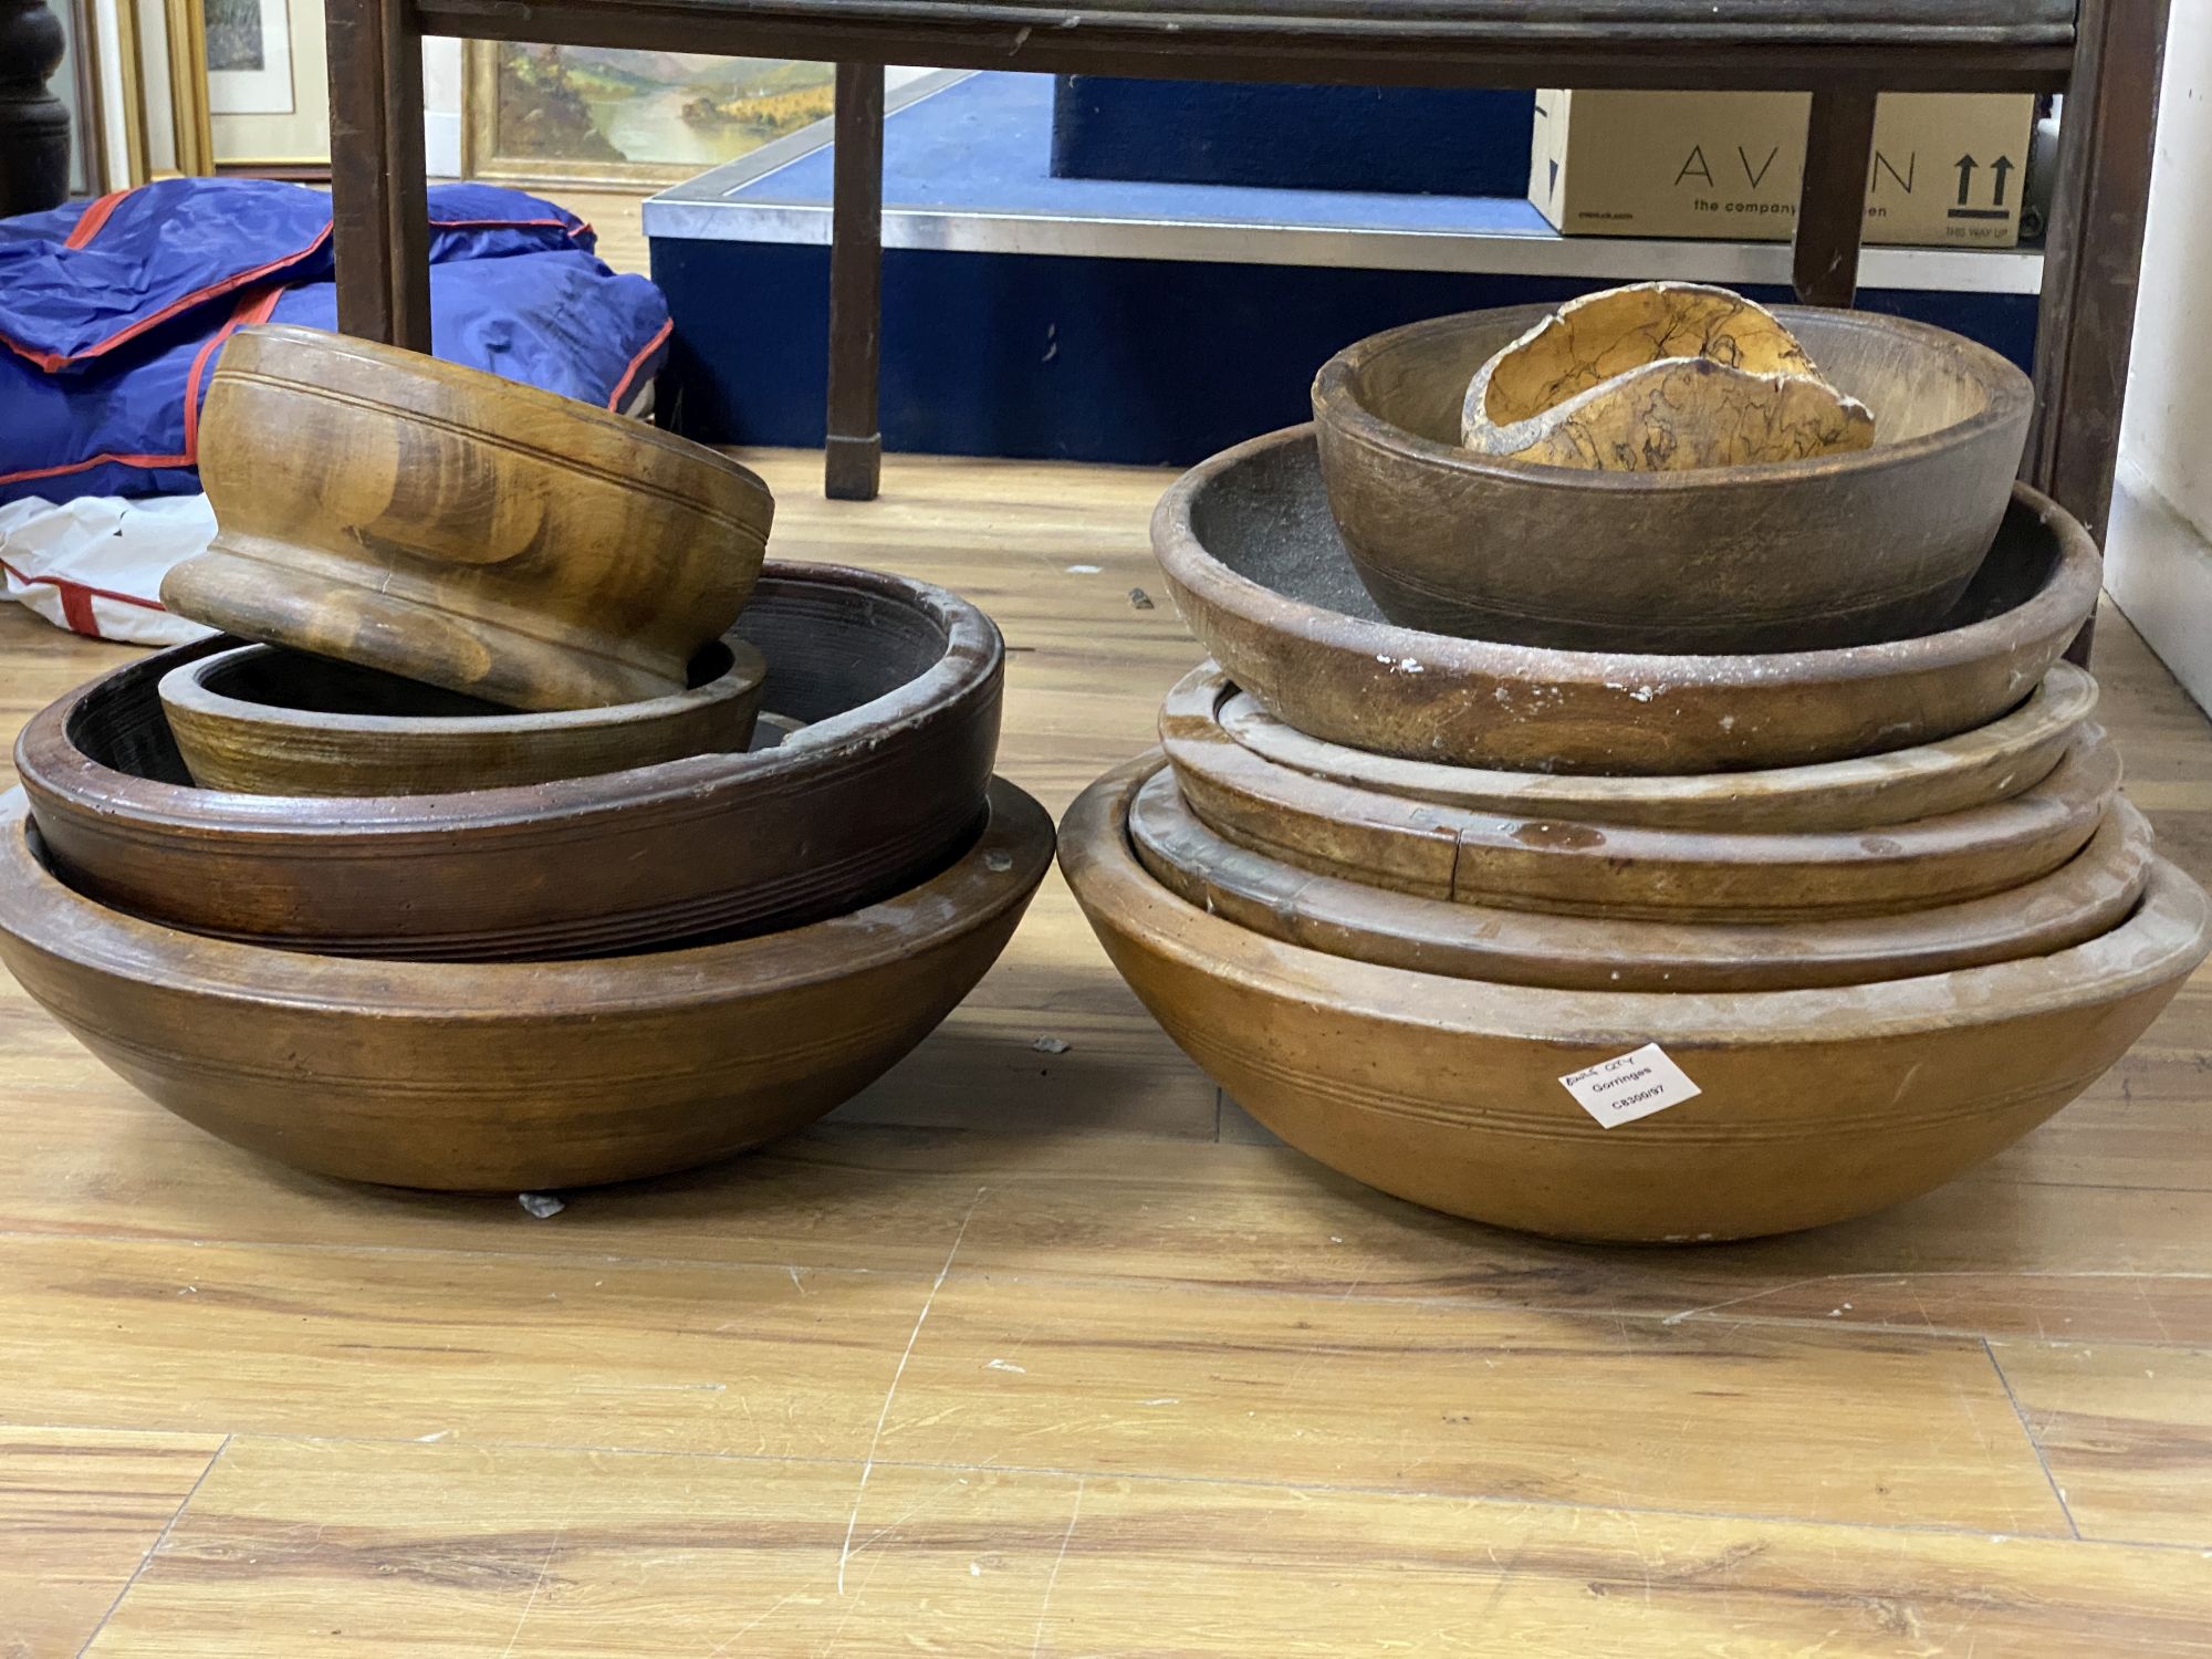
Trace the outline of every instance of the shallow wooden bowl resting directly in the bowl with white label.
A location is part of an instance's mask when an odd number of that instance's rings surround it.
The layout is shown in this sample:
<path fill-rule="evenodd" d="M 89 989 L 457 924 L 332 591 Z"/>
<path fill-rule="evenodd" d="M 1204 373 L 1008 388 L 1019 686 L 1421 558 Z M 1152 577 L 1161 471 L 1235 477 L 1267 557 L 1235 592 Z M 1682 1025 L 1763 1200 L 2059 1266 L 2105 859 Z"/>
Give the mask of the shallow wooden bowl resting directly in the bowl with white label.
<path fill-rule="evenodd" d="M 2126 799 L 2055 872 L 1986 898 L 1898 916 L 1646 922 L 1416 898 L 1217 836 L 1170 770 L 1130 803 L 1144 867 L 1179 898 L 1254 933 L 1356 962 L 1559 991 L 1792 991 L 2017 962 L 2126 920 L 2150 876 L 2150 823 Z"/>

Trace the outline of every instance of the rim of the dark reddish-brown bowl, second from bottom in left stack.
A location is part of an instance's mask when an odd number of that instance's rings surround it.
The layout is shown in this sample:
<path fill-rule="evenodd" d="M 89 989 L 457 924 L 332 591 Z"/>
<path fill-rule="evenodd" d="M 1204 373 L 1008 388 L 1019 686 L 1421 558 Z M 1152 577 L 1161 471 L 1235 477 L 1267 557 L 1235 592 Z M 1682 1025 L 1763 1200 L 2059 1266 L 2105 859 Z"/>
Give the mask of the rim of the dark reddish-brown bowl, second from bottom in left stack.
<path fill-rule="evenodd" d="M 314 796 L 314 814 L 301 814 L 303 796 L 241 794 L 159 783 L 93 761 L 69 737 L 75 710 L 115 675 L 142 668 L 124 664 L 69 690 L 15 737 L 15 772 L 33 801 L 51 796 L 75 814 L 95 814 L 108 834 L 131 834 L 173 843 L 179 834 L 221 841 L 230 852 L 257 845 L 283 849 L 303 845 L 347 845 L 363 849 L 378 841 L 405 841 L 425 832 L 500 830 L 520 845 L 533 836 L 571 838 L 597 830 L 624 832 L 630 814 L 659 810 L 675 823 L 710 816 L 730 787 L 754 787 L 763 776 L 799 765 L 832 763 L 836 752 L 860 752 L 905 728 L 929 723 L 956 708 L 989 697 L 1004 670 L 998 624 L 975 604 L 933 582 L 869 571 L 852 564 L 768 560 L 761 584 L 858 588 L 876 604 L 898 604 L 925 613 L 945 630 L 945 650 L 905 686 L 827 719 L 799 728 L 772 750 L 754 754 L 690 754 L 626 772 L 602 772 L 553 783 L 522 783 L 453 794 Z M 754 597 L 759 604 L 759 591 Z M 175 646 L 179 653 L 210 653 L 215 641 Z M 774 710 L 770 710 L 774 712 Z M 830 754 L 825 754 L 830 752 Z"/>

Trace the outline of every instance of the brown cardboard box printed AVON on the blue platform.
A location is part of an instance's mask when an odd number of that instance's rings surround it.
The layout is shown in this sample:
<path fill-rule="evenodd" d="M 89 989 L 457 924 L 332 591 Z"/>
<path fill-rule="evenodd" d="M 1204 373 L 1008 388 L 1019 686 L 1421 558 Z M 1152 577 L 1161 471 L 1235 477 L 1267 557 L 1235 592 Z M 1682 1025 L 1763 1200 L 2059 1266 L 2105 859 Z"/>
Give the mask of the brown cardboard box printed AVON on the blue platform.
<path fill-rule="evenodd" d="M 1787 241 L 1809 93 L 1542 91 L 1528 199 L 1571 237 Z M 1867 241 L 2011 248 L 2033 93 L 1882 93 Z"/>

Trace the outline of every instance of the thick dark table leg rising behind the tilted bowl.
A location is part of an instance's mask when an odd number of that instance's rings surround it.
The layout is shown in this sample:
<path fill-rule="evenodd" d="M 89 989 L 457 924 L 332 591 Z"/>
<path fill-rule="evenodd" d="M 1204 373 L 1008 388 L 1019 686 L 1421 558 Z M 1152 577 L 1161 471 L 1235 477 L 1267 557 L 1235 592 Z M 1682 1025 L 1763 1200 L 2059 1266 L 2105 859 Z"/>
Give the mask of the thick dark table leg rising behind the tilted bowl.
<path fill-rule="evenodd" d="M 422 31 L 409 0 L 327 0 L 338 327 L 429 352 Z"/>

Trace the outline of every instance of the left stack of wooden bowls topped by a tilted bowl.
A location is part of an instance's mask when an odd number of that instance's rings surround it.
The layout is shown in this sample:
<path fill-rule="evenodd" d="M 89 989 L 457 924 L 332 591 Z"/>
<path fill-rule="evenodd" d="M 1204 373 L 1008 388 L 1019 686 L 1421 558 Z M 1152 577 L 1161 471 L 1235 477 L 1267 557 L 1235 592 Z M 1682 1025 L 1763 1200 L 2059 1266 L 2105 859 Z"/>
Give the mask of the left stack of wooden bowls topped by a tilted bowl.
<path fill-rule="evenodd" d="M 942 588 L 765 560 L 730 460 L 248 330 L 208 394 L 228 628 L 77 688 L 0 796 L 0 958 L 177 1115 L 325 1175 L 564 1188 L 827 1113 L 1051 863 Z"/>

